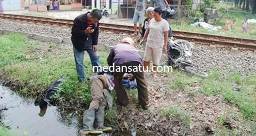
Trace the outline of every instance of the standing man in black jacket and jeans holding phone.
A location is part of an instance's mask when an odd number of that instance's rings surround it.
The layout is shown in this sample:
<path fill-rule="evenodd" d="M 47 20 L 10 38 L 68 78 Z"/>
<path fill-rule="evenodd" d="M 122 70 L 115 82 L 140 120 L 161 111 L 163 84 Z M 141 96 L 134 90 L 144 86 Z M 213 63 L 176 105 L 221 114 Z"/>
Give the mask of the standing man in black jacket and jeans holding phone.
<path fill-rule="evenodd" d="M 102 18 L 98 9 L 92 10 L 75 18 L 72 27 L 71 40 L 74 45 L 74 57 L 76 62 L 76 72 L 79 82 L 85 80 L 84 75 L 84 51 L 87 51 L 92 67 L 100 66 L 98 50 L 99 20 Z M 94 73 L 97 70 L 94 69 Z"/>

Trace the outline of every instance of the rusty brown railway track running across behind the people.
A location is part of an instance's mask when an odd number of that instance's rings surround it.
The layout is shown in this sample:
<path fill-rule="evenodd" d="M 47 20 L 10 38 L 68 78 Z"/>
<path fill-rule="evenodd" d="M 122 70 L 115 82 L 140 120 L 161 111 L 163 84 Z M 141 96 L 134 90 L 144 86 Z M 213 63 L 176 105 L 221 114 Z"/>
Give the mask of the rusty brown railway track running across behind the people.
<path fill-rule="evenodd" d="M 73 20 L 66 19 L 55 19 L 55 18 L 45 18 L 38 16 L 24 16 L 24 15 L 13 15 L 13 14 L 0 14 L 0 18 L 16 20 L 20 22 L 36 23 L 39 25 L 51 24 L 56 27 L 67 27 L 70 28 L 73 25 Z M 106 24 L 100 23 L 101 30 L 107 30 L 112 32 L 128 33 L 132 34 L 134 32 L 133 26 L 123 26 L 117 24 Z M 189 41 L 208 43 L 214 45 L 225 45 L 230 47 L 240 47 L 249 48 L 256 50 L 256 40 L 254 39 L 244 39 L 237 37 L 227 37 L 220 35 L 210 35 L 210 34 L 198 34 L 193 32 L 183 32 L 183 31 L 172 31 L 174 37 L 178 39 L 186 39 Z"/>

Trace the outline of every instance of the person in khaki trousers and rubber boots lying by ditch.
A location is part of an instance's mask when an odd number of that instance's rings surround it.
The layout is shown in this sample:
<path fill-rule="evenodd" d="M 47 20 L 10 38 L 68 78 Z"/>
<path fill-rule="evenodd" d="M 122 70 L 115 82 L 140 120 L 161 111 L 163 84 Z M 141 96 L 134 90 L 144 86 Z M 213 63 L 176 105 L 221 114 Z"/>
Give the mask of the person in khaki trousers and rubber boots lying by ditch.
<path fill-rule="evenodd" d="M 92 101 L 87 110 L 84 111 L 83 129 L 81 134 L 102 134 L 111 132 L 112 128 L 104 126 L 105 108 L 112 107 L 112 97 L 108 90 L 112 91 L 115 87 L 114 76 L 110 73 L 93 74 L 90 78 L 90 92 Z M 136 87 L 134 75 L 125 73 L 122 77 L 122 83 L 127 88 Z"/>

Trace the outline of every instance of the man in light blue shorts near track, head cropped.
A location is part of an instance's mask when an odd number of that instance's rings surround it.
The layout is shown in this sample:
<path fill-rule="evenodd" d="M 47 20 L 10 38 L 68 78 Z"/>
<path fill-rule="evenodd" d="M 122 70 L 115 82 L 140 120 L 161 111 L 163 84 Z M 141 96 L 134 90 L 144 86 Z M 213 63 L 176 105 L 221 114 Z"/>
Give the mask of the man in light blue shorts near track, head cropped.
<path fill-rule="evenodd" d="M 145 8 L 146 8 L 146 3 L 148 0 L 136 0 L 136 7 L 133 15 L 133 24 L 134 24 L 134 34 L 133 36 L 138 35 L 138 33 L 142 29 L 142 24 L 144 23 L 145 19 Z M 134 0 L 131 0 L 131 4 L 133 5 Z M 139 26 L 139 31 L 137 32 L 137 23 L 140 24 Z"/>

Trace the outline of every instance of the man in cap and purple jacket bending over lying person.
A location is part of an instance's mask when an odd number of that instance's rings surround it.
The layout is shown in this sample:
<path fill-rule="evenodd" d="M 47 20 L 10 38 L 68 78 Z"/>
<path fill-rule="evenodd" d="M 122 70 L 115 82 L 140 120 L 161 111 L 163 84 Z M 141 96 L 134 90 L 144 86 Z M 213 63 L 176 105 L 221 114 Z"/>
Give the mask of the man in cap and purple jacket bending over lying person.
<path fill-rule="evenodd" d="M 121 43 L 111 49 L 107 60 L 109 66 L 114 66 L 114 84 L 118 103 L 122 106 L 128 105 L 122 77 L 124 73 L 132 73 L 137 81 L 139 103 L 142 108 L 147 109 L 149 106 L 148 89 L 142 68 L 142 58 L 134 47 L 134 41 L 129 37 L 124 38 Z M 117 67 L 122 67 L 122 69 L 118 70 Z M 137 70 L 130 71 L 129 67 L 136 67 Z"/>

